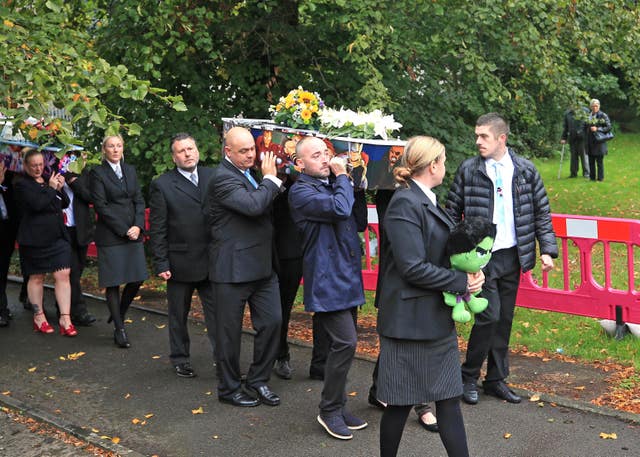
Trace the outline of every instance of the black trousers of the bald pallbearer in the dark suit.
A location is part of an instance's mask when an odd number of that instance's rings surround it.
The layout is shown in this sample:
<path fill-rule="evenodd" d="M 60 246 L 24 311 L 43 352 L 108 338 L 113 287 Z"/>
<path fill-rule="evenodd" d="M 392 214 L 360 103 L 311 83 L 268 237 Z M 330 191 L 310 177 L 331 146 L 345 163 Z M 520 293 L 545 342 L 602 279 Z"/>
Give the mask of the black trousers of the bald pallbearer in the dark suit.
<path fill-rule="evenodd" d="M 220 382 L 218 395 L 229 396 L 241 388 L 240 339 L 245 304 L 249 304 L 251 322 L 256 335 L 253 361 L 247 372 L 249 387 L 265 385 L 271 376 L 278 350 L 282 312 L 278 278 L 271 277 L 246 283 L 214 283 L 216 303 L 216 351 Z"/>

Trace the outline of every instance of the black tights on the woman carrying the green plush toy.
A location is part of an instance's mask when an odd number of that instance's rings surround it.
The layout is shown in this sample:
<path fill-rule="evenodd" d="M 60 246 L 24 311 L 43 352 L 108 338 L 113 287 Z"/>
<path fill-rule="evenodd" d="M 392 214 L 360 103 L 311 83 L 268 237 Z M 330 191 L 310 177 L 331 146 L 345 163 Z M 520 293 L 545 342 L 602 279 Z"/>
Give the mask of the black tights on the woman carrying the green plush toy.
<path fill-rule="evenodd" d="M 412 406 L 389 405 L 380 421 L 380 457 L 395 457 L 400 446 L 404 424 Z M 469 457 L 467 435 L 464 430 L 460 398 L 449 398 L 436 402 L 436 416 L 440 439 L 449 457 Z"/>

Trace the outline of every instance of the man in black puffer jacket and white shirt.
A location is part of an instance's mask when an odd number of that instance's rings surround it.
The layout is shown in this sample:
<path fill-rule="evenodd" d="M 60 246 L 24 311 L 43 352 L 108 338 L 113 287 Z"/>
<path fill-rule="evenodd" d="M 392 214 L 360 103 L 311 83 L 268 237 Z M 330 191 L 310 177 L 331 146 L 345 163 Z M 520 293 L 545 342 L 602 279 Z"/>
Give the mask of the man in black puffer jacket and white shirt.
<path fill-rule="evenodd" d="M 491 261 L 484 269 L 482 296 L 489 306 L 475 316 L 462 365 L 463 400 L 478 402 L 477 381 L 487 359 L 484 392 L 519 403 L 520 397 L 504 380 L 509 375 L 509 338 L 520 273 L 535 265 L 536 239 L 544 271 L 553 268 L 558 246 L 540 174 L 529 160 L 507 148 L 507 121 L 497 113 L 482 115 L 475 135 L 480 154 L 458 168 L 447 211 L 456 221 L 463 216 L 490 219 L 497 226 L 497 235 Z"/>

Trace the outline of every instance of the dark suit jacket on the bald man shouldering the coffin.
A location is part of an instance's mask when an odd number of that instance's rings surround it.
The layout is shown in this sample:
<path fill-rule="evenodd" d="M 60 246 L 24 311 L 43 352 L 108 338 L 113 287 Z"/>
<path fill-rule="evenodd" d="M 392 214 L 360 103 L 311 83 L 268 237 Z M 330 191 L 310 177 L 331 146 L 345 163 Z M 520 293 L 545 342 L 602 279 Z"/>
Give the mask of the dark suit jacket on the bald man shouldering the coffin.
<path fill-rule="evenodd" d="M 254 189 L 227 159 L 209 183 L 207 208 L 211 244 L 209 279 L 243 283 L 274 271 L 272 203 L 280 188 L 263 180 Z"/>

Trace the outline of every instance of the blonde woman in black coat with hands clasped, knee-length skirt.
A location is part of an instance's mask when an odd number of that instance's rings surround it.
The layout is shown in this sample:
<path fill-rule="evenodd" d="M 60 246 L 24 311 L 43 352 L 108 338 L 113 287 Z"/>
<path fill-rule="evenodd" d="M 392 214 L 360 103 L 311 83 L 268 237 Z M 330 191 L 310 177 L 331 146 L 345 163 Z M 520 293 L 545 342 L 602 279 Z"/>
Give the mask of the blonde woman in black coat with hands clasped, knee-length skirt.
<path fill-rule="evenodd" d="M 130 347 L 124 329 L 125 314 L 142 282 L 149 277 L 142 244 L 144 199 L 136 170 L 122 161 L 124 142 L 119 135 L 102 142 L 104 160 L 91 170 L 91 200 L 98 220 L 98 284 L 105 288 L 113 338 Z M 120 285 L 125 284 L 122 295 Z"/>

